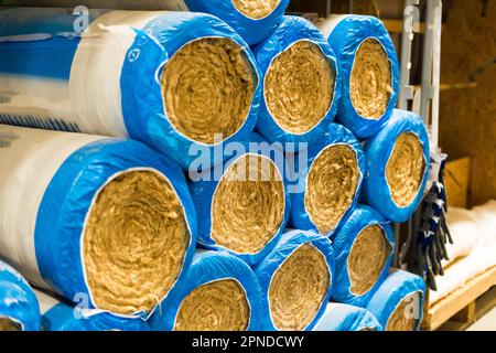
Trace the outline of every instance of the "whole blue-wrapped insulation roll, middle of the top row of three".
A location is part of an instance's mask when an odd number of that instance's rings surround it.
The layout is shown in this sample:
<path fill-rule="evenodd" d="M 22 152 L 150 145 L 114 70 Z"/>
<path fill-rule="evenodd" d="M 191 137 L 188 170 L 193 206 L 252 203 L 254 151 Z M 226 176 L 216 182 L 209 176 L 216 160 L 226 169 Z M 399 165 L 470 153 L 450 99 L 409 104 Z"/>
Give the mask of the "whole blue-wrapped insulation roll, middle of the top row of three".
<path fill-rule="evenodd" d="M 263 76 L 257 130 L 271 142 L 317 140 L 341 100 L 338 64 L 322 33 L 305 19 L 284 17 L 254 53 Z"/>

